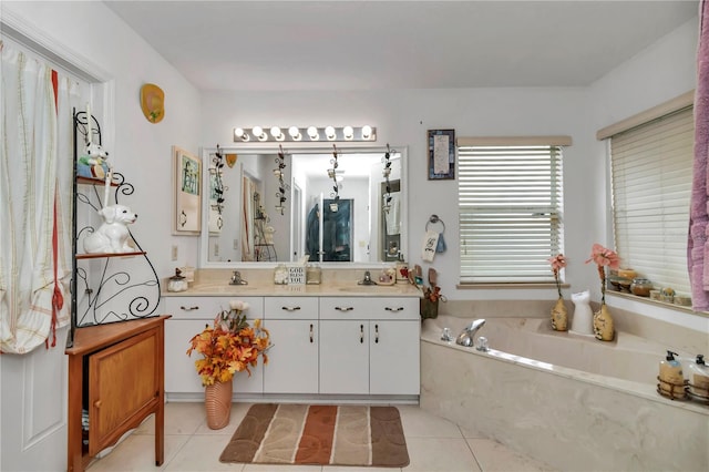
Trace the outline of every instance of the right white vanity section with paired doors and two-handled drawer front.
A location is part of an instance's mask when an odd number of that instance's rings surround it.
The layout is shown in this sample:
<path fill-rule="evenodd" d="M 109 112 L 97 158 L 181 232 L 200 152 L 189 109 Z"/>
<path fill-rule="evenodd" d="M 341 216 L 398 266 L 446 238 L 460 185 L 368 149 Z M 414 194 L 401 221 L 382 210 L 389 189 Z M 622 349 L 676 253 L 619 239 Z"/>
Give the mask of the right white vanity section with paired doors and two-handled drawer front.
<path fill-rule="evenodd" d="M 320 393 L 419 394 L 419 299 L 320 299 Z"/>

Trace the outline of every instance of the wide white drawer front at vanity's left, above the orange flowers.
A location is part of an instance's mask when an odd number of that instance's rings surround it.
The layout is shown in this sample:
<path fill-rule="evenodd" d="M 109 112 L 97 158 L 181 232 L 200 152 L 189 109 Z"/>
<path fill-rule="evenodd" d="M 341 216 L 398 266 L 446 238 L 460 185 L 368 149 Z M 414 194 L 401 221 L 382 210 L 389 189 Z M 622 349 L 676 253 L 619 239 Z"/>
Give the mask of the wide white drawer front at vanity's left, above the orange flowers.
<path fill-rule="evenodd" d="M 229 309 L 230 300 L 249 305 L 246 318 L 264 317 L 263 297 L 164 297 L 165 312 L 176 319 L 214 319 L 217 312 Z"/>

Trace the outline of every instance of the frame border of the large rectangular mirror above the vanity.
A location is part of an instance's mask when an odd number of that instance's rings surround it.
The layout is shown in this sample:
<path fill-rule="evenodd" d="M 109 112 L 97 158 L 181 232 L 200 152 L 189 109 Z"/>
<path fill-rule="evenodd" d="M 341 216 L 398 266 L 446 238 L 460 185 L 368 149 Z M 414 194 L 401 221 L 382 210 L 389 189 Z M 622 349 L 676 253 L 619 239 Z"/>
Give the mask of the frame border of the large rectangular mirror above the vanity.
<path fill-rule="evenodd" d="M 387 145 L 362 145 L 362 146 L 340 146 L 340 142 L 337 143 L 320 143 L 320 145 L 312 145 L 314 143 L 304 143 L 305 145 L 294 145 L 294 143 L 288 143 L 288 148 L 284 148 L 286 154 L 297 155 L 297 154 L 331 154 L 332 153 L 332 144 L 337 145 L 337 148 L 340 154 L 347 153 L 381 153 L 382 157 L 387 152 Z M 402 181 L 402 189 L 401 198 L 404 202 L 403 212 L 401 212 L 401 227 L 404 228 L 403 237 L 401 238 L 401 254 L 404 255 L 404 260 L 407 257 L 410 257 L 409 254 L 409 146 L 389 146 L 391 152 L 395 152 L 401 154 L 401 181 Z M 219 146 L 219 150 L 223 153 L 230 153 L 235 151 L 237 154 L 277 154 L 278 153 L 278 143 L 264 143 L 264 145 L 258 145 L 256 143 L 250 143 L 250 145 L 232 145 L 228 147 Z M 209 173 L 207 172 L 209 168 L 209 154 L 213 154 L 216 151 L 216 147 L 202 147 L 202 188 L 203 188 L 203 198 L 202 198 L 202 214 L 204 217 L 202 218 L 202 232 L 199 234 L 198 242 L 198 258 L 197 258 L 197 267 L 201 269 L 273 269 L 278 264 L 295 264 L 294 261 L 230 261 L 230 263 L 222 263 L 222 261 L 209 261 L 208 253 L 209 253 L 209 198 L 205 197 L 205 188 L 209 188 Z M 323 170 L 325 172 L 326 170 Z M 288 183 L 291 187 L 290 198 L 292 202 L 292 182 Z M 382 267 L 392 265 L 392 261 L 383 261 L 383 260 L 372 260 L 366 263 L 336 263 L 336 261 L 323 261 L 318 263 L 320 267 L 323 268 L 369 268 L 369 267 Z"/>

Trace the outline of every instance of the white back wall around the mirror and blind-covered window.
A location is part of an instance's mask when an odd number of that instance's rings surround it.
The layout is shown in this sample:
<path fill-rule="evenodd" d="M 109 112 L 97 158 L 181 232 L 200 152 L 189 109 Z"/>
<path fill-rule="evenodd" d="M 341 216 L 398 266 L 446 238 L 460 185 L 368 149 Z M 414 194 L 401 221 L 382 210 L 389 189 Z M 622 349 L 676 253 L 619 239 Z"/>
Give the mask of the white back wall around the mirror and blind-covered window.
<path fill-rule="evenodd" d="M 427 178 L 427 130 L 455 129 L 456 135 L 568 134 L 574 146 L 565 152 L 566 253 L 576 263 L 568 278 L 576 287 L 595 283 L 595 271 L 582 261 L 604 227 L 587 224 L 594 209 L 587 192 L 603 188 L 603 172 L 592 172 L 590 152 L 595 131 L 589 129 L 588 92 L 585 89 L 477 89 L 398 90 L 322 93 L 224 93 L 205 92 L 203 135 L 205 142 L 230 144 L 234 126 L 269 123 L 300 126 L 333 123 L 377 126 L 377 144 L 409 147 L 409 228 L 407 259 L 422 264 L 420 247 L 431 214 L 445 222 L 448 252 L 435 257 L 433 267 L 442 293 L 450 299 L 542 298 L 543 290 L 459 290 L 458 182 Z M 286 120 L 287 123 L 284 123 Z M 432 197 L 434 196 L 434 197 Z M 425 267 L 424 267 L 425 268 Z"/>

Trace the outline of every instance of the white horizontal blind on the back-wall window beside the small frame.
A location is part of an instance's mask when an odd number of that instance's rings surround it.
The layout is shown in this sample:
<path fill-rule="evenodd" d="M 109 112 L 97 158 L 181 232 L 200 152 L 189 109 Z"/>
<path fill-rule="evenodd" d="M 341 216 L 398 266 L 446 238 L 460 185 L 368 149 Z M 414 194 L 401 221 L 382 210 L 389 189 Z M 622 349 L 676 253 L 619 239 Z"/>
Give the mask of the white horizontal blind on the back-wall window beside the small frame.
<path fill-rule="evenodd" d="M 563 252 L 562 147 L 459 147 L 461 283 L 547 283 Z"/>

